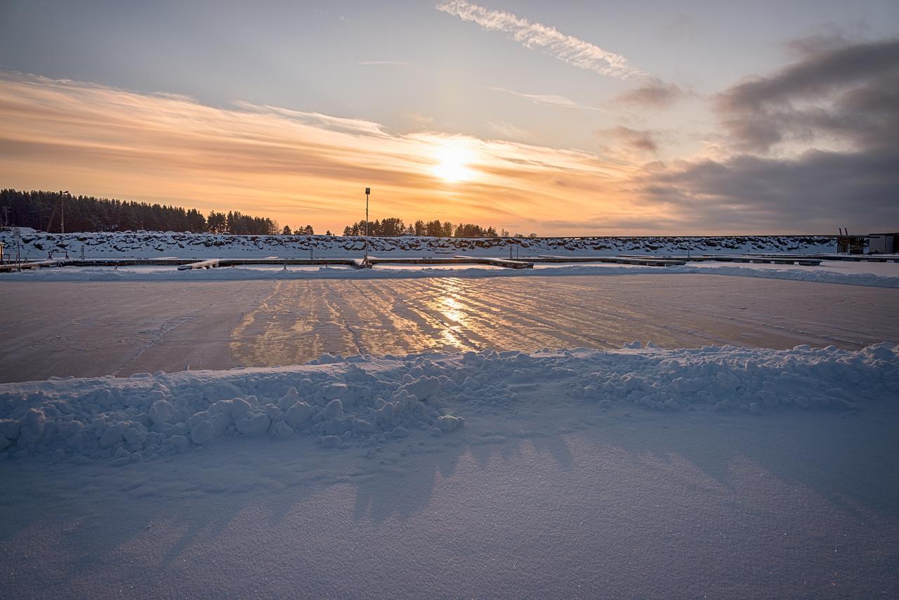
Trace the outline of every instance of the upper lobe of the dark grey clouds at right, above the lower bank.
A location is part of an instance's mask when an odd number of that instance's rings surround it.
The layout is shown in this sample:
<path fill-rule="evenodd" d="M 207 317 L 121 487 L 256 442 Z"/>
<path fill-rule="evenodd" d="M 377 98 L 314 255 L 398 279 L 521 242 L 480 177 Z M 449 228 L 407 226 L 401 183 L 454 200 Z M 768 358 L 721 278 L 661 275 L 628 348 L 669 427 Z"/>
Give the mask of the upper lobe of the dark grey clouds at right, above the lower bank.
<path fill-rule="evenodd" d="M 889 147 L 899 130 L 899 40 L 806 44 L 805 58 L 752 77 L 715 100 L 734 148 L 794 142 L 832 149 Z"/>

